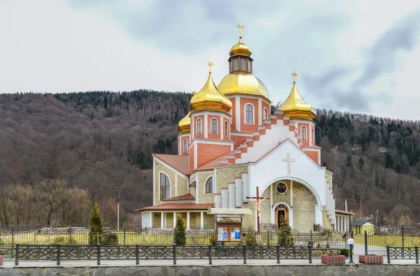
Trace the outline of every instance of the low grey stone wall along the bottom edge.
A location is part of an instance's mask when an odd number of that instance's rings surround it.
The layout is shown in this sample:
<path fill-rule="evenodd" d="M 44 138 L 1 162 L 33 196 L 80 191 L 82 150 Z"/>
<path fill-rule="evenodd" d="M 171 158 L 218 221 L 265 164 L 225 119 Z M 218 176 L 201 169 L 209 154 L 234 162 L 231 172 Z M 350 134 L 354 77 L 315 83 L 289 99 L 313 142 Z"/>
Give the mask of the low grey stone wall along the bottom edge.
<path fill-rule="evenodd" d="M 239 261 L 240 262 L 240 261 Z M 1 268 L 3 275 L 420 275 L 419 265 L 165 265 Z"/>

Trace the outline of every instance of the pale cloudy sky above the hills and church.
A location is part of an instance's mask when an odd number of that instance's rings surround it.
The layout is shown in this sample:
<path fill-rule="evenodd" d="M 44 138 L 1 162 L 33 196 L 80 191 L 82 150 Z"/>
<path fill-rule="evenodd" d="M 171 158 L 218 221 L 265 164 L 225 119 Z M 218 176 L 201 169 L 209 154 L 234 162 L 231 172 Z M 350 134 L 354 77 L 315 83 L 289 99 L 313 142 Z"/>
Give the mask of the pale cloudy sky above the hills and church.
<path fill-rule="evenodd" d="M 420 1 L 0 0 L 0 92 L 200 90 L 238 28 L 283 102 L 420 119 Z"/>

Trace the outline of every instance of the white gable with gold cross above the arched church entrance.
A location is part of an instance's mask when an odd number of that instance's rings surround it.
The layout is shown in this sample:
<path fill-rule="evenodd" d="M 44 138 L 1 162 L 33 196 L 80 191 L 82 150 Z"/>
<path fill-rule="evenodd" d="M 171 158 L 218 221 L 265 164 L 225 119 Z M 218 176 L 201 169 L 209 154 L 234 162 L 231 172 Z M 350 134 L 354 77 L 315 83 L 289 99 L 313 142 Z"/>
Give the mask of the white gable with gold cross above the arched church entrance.
<path fill-rule="evenodd" d="M 283 161 L 290 156 L 290 174 L 288 162 Z M 298 181 L 314 193 L 317 204 L 325 205 L 325 168 L 311 160 L 306 153 L 287 139 L 258 163 L 249 165 L 249 185 L 251 195 L 255 187 L 260 186 L 260 193 L 269 185 L 281 179 Z"/>

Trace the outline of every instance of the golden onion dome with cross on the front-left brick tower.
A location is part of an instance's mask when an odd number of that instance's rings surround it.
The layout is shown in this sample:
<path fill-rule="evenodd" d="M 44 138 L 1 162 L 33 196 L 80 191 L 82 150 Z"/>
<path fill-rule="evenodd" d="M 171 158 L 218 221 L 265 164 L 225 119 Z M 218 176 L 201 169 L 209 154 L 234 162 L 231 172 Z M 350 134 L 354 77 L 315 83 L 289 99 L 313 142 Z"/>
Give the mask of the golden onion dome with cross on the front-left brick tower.
<path fill-rule="evenodd" d="M 209 77 L 204 87 L 191 98 L 190 111 L 206 110 L 228 113 L 232 109 L 232 102 L 216 88 L 213 78 L 211 78 L 211 65 L 213 64 L 211 62 L 208 64 L 210 65 Z"/>

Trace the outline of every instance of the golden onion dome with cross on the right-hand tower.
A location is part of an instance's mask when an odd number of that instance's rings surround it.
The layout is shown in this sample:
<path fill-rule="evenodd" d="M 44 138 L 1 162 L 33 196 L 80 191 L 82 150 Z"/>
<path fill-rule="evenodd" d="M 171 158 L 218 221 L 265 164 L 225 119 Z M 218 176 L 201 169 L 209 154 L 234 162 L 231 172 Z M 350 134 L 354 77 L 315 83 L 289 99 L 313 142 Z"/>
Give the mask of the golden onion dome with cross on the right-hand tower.
<path fill-rule="evenodd" d="M 280 111 L 284 112 L 284 116 L 290 117 L 290 119 L 309 119 L 313 120 L 316 117 L 316 111 L 312 108 L 299 94 L 296 88 L 296 76 L 295 72 L 293 76 L 293 88 L 290 95 L 280 106 Z"/>

